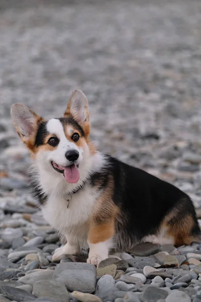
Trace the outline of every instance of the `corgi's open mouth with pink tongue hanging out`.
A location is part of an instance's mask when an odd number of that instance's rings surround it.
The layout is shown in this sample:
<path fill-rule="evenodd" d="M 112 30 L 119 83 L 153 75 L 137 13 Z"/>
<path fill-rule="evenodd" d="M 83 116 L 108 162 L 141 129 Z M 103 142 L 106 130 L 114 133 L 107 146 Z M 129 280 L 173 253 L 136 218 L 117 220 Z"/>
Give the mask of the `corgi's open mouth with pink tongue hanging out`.
<path fill-rule="evenodd" d="M 60 166 L 57 163 L 51 161 L 51 165 L 59 173 L 62 173 L 65 180 L 71 184 L 78 182 L 79 180 L 79 165 L 72 164 L 70 166 Z"/>

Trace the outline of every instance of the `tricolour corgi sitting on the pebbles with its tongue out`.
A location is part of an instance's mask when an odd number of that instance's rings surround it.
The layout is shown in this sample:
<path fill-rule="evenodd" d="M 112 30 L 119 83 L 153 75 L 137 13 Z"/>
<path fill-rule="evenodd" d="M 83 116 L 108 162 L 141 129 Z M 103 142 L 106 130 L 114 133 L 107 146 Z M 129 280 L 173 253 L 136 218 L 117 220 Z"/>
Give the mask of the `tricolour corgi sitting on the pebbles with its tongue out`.
<path fill-rule="evenodd" d="M 31 152 L 32 187 L 44 218 L 66 237 L 53 261 L 89 249 L 98 265 L 136 244 L 189 245 L 200 239 L 192 201 L 175 186 L 98 152 L 89 140 L 88 101 L 75 90 L 64 116 L 45 120 L 14 104 L 15 128 Z"/>

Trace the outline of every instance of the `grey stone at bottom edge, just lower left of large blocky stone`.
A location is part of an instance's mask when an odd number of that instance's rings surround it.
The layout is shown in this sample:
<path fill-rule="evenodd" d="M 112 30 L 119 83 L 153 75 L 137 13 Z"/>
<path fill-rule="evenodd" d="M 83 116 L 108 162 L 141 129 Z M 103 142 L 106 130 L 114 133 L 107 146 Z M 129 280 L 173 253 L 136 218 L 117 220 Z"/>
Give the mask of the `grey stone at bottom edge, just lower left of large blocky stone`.
<path fill-rule="evenodd" d="M 56 280 L 40 280 L 34 283 L 33 294 L 38 297 L 50 297 L 58 302 L 69 302 L 69 293 L 64 283 Z"/>

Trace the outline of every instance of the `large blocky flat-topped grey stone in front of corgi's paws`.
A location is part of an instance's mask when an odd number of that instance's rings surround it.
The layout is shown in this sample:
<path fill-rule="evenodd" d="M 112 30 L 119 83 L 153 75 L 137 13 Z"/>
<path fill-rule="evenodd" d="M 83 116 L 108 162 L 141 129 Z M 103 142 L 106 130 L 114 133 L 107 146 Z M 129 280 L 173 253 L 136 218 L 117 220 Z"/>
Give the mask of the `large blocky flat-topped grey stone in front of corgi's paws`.
<path fill-rule="evenodd" d="M 95 290 L 96 268 L 88 263 L 61 263 L 56 266 L 53 279 L 63 282 L 70 291 L 91 293 Z"/>

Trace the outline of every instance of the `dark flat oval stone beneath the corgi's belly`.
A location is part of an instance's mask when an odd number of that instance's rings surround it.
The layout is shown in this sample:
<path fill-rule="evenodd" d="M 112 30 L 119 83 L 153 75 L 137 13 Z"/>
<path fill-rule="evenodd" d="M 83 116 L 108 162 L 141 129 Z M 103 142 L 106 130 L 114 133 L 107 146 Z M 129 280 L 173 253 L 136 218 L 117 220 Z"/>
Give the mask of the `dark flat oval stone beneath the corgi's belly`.
<path fill-rule="evenodd" d="M 145 242 L 145 243 L 137 244 L 136 246 L 134 246 L 134 248 L 132 248 L 130 252 L 135 256 L 146 257 L 158 253 L 161 250 L 162 248 L 159 244 Z"/>

